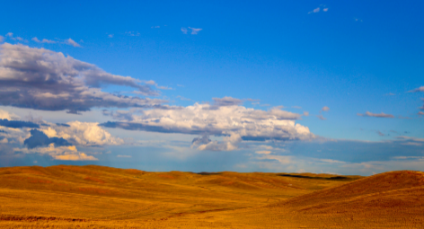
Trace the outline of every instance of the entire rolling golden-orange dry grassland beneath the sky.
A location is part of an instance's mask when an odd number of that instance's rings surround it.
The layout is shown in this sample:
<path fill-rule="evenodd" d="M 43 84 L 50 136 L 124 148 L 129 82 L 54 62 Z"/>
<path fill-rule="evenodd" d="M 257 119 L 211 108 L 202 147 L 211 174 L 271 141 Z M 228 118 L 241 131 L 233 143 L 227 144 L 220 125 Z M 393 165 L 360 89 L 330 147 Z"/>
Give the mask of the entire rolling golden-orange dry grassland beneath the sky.
<path fill-rule="evenodd" d="M 2 228 L 424 228 L 424 173 L 0 168 Z"/>

